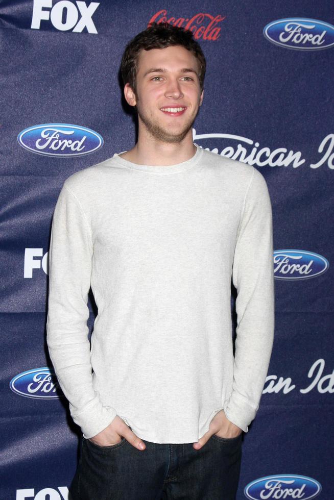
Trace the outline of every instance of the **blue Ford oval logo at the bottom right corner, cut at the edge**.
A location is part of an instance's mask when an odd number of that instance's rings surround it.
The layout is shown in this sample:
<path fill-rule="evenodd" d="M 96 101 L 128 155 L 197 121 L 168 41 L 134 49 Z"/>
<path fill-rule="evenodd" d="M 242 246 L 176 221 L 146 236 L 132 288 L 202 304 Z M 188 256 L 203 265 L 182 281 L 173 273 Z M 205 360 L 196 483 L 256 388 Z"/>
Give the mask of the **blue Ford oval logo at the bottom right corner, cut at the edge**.
<path fill-rule="evenodd" d="M 321 492 L 321 484 L 315 479 L 294 474 L 266 476 L 255 479 L 244 489 L 245 496 L 251 500 L 264 498 L 302 498 L 309 500 Z"/>

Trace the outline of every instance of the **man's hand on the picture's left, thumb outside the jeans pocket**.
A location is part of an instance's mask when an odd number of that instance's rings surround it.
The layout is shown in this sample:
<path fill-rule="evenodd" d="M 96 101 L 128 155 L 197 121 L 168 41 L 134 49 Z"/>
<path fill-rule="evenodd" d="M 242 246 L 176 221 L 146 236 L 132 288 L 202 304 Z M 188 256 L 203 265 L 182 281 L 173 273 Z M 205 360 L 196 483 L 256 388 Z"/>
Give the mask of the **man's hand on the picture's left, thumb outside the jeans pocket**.
<path fill-rule="evenodd" d="M 112 446 L 113 444 L 120 443 L 122 441 L 122 436 L 125 437 L 132 446 L 140 449 L 140 451 L 146 448 L 145 443 L 131 431 L 130 427 L 127 426 L 125 421 L 118 415 L 115 416 L 108 427 L 103 429 L 103 431 L 99 432 L 96 436 L 89 438 L 89 440 L 99 446 Z"/>

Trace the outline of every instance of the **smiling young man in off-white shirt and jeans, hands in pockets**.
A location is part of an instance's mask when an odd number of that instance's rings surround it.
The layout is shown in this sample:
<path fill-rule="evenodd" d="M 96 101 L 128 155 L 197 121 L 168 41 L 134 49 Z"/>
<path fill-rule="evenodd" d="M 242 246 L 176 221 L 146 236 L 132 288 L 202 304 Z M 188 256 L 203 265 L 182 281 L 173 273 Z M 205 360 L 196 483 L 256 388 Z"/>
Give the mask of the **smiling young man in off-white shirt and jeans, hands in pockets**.
<path fill-rule="evenodd" d="M 204 74 L 192 33 L 139 33 L 122 59 L 138 141 L 56 204 L 47 343 L 83 433 L 74 500 L 235 498 L 273 342 L 272 213 L 258 170 L 193 143 Z"/>

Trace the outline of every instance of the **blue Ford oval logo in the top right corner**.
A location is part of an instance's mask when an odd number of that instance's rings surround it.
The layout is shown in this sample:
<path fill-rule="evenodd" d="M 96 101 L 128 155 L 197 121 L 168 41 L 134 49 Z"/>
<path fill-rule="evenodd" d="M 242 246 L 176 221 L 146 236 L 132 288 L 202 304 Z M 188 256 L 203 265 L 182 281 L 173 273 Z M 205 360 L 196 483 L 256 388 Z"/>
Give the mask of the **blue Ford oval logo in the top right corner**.
<path fill-rule="evenodd" d="M 286 48 L 309 51 L 334 45 L 334 26 L 317 19 L 278 19 L 267 24 L 263 32 L 270 42 Z"/>

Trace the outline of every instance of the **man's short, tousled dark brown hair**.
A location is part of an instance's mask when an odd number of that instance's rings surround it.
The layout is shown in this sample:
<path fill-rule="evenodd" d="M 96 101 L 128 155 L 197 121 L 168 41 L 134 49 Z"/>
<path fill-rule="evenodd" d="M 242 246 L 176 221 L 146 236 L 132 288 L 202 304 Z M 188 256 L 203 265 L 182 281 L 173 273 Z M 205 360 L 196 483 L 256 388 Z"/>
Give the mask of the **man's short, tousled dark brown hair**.
<path fill-rule="evenodd" d="M 136 93 L 137 62 L 140 51 L 150 51 L 153 48 L 166 48 L 173 45 L 181 45 L 196 57 L 199 63 L 198 78 L 201 90 L 203 90 L 206 62 L 200 44 L 194 39 L 191 31 L 172 26 L 166 22 L 152 23 L 149 28 L 138 33 L 127 44 L 121 63 L 124 85 L 128 83 Z"/>

